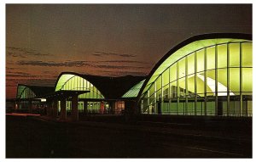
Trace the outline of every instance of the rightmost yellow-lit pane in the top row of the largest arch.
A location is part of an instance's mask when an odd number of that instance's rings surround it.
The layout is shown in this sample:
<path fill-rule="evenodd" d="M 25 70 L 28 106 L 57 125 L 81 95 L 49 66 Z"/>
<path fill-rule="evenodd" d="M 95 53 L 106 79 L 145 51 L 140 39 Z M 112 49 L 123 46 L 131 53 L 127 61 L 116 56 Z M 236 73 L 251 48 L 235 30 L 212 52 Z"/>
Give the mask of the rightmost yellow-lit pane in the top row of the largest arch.
<path fill-rule="evenodd" d="M 242 67 L 253 67 L 252 42 L 242 43 Z"/>

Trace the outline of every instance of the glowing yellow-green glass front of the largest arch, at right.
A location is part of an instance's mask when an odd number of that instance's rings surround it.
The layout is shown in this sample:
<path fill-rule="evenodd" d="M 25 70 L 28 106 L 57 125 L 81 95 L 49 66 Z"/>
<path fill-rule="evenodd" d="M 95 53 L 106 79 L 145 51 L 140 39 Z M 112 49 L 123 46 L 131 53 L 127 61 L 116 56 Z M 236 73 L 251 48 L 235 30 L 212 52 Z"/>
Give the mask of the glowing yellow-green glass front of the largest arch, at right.
<path fill-rule="evenodd" d="M 141 113 L 252 116 L 252 46 L 218 38 L 180 47 L 149 76 Z"/>

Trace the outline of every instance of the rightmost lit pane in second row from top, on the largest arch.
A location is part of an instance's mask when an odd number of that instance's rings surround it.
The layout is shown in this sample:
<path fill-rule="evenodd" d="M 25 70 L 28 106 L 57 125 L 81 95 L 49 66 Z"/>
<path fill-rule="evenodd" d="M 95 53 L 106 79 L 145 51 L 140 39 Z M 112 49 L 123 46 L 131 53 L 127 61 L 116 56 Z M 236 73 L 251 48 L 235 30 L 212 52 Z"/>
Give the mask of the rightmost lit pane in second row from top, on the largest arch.
<path fill-rule="evenodd" d="M 242 68 L 242 92 L 253 92 L 253 68 Z"/>

